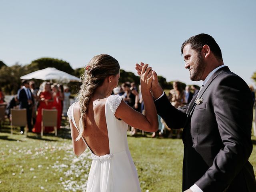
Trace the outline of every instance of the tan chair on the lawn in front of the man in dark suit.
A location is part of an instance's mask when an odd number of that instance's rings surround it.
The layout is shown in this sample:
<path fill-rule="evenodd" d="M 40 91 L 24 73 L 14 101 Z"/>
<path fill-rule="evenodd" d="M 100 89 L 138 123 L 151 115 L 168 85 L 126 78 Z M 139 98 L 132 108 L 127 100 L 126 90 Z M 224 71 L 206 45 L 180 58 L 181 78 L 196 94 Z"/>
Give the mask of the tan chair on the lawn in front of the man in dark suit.
<path fill-rule="evenodd" d="M 27 110 L 26 109 L 11 109 L 11 134 L 13 133 L 13 126 L 24 126 L 25 136 L 27 136 Z"/>

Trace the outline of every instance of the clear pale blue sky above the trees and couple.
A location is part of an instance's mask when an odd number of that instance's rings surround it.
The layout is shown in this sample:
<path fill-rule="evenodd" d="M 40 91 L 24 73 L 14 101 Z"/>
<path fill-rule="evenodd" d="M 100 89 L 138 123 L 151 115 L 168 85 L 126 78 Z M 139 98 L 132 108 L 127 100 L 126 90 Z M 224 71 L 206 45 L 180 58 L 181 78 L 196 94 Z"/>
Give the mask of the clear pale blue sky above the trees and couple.
<path fill-rule="evenodd" d="M 0 60 L 8 66 L 41 57 L 80 68 L 97 54 L 110 54 L 135 72 L 149 63 L 168 81 L 192 82 L 180 46 L 207 33 L 224 64 L 253 84 L 256 1 L 0 0 Z"/>

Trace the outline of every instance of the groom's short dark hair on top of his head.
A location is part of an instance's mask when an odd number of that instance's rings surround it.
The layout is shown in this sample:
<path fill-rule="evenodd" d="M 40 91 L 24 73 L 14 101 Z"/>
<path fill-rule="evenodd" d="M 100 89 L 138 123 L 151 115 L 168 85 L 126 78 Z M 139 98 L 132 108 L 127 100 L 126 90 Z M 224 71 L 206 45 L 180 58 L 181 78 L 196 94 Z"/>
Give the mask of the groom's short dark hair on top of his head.
<path fill-rule="evenodd" d="M 208 34 L 201 33 L 190 37 L 182 44 L 181 54 L 183 54 L 183 48 L 186 44 L 190 44 L 191 48 L 196 50 L 197 52 L 200 52 L 204 45 L 208 45 L 214 56 L 218 60 L 223 61 L 220 47 L 218 46 L 214 38 Z"/>

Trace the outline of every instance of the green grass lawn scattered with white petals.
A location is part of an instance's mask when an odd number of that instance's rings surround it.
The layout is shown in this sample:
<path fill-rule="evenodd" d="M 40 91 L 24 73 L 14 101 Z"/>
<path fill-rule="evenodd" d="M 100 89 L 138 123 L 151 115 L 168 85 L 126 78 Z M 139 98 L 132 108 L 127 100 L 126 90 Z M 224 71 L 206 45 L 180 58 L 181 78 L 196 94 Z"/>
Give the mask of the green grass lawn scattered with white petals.
<path fill-rule="evenodd" d="M 256 174 L 256 137 L 250 162 Z M 183 144 L 181 139 L 130 137 L 128 143 L 138 170 L 142 192 L 182 190 Z M 90 169 L 88 150 L 80 157 L 72 152 L 70 132 L 62 128 L 58 137 L 38 138 L 18 130 L 0 129 L 0 191 L 85 191 Z"/>

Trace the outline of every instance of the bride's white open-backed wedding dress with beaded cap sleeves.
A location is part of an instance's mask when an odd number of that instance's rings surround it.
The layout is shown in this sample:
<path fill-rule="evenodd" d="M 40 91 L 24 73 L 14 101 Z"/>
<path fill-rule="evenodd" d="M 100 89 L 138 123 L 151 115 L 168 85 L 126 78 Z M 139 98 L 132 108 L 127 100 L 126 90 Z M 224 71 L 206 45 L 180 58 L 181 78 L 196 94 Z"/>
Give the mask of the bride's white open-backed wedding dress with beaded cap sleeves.
<path fill-rule="evenodd" d="M 132 160 L 128 143 L 128 125 L 115 117 L 122 97 L 111 95 L 105 104 L 105 116 L 108 129 L 110 154 L 96 156 L 92 153 L 92 165 L 87 182 L 86 192 L 140 192 L 138 173 Z M 68 109 L 68 117 L 72 119 L 74 104 Z M 79 130 L 79 129 L 78 129 Z M 84 138 L 82 137 L 84 140 Z M 86 144 L 86 141 L 84 140 Z M 88 147 L 88 145 L 86 144 Z M 89 148 L 89 147 L 88 147 Z M 90 149 L 90 148 L 89 148 Z"/>

